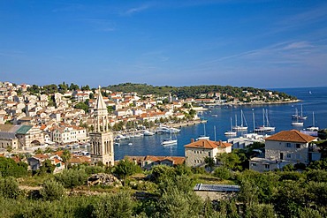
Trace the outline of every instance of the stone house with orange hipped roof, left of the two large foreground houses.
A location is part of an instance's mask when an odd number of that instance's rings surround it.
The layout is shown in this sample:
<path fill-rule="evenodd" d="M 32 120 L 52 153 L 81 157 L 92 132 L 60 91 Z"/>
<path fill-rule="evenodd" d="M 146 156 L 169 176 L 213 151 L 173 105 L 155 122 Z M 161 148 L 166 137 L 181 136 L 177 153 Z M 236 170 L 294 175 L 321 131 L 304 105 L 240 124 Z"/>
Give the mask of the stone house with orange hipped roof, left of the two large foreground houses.
<path fill-rule="evenodd" d="M 211 157 L 216 161 L 217 154 L 231 153 L 232 144 L 223 141 L 192 140 L 185 146 L 186 165 L 189 167 L 200 167 L 205 164 L 204 158 Z"/>

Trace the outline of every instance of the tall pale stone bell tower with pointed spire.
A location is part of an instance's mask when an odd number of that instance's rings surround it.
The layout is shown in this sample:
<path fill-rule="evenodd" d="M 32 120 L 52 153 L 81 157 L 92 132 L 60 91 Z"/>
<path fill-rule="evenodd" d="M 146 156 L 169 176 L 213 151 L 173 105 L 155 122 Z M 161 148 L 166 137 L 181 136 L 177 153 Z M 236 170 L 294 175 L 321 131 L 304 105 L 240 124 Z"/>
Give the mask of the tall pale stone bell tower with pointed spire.
<path fill-rule="evenodd" d="M 99 86 L 94 110 L 94 132 L 89 133 L 91 144 L 91 164 L 103 162 L 109 166 L 114 164 L 113 135 L 109 130 L 108 110 Z"/>

